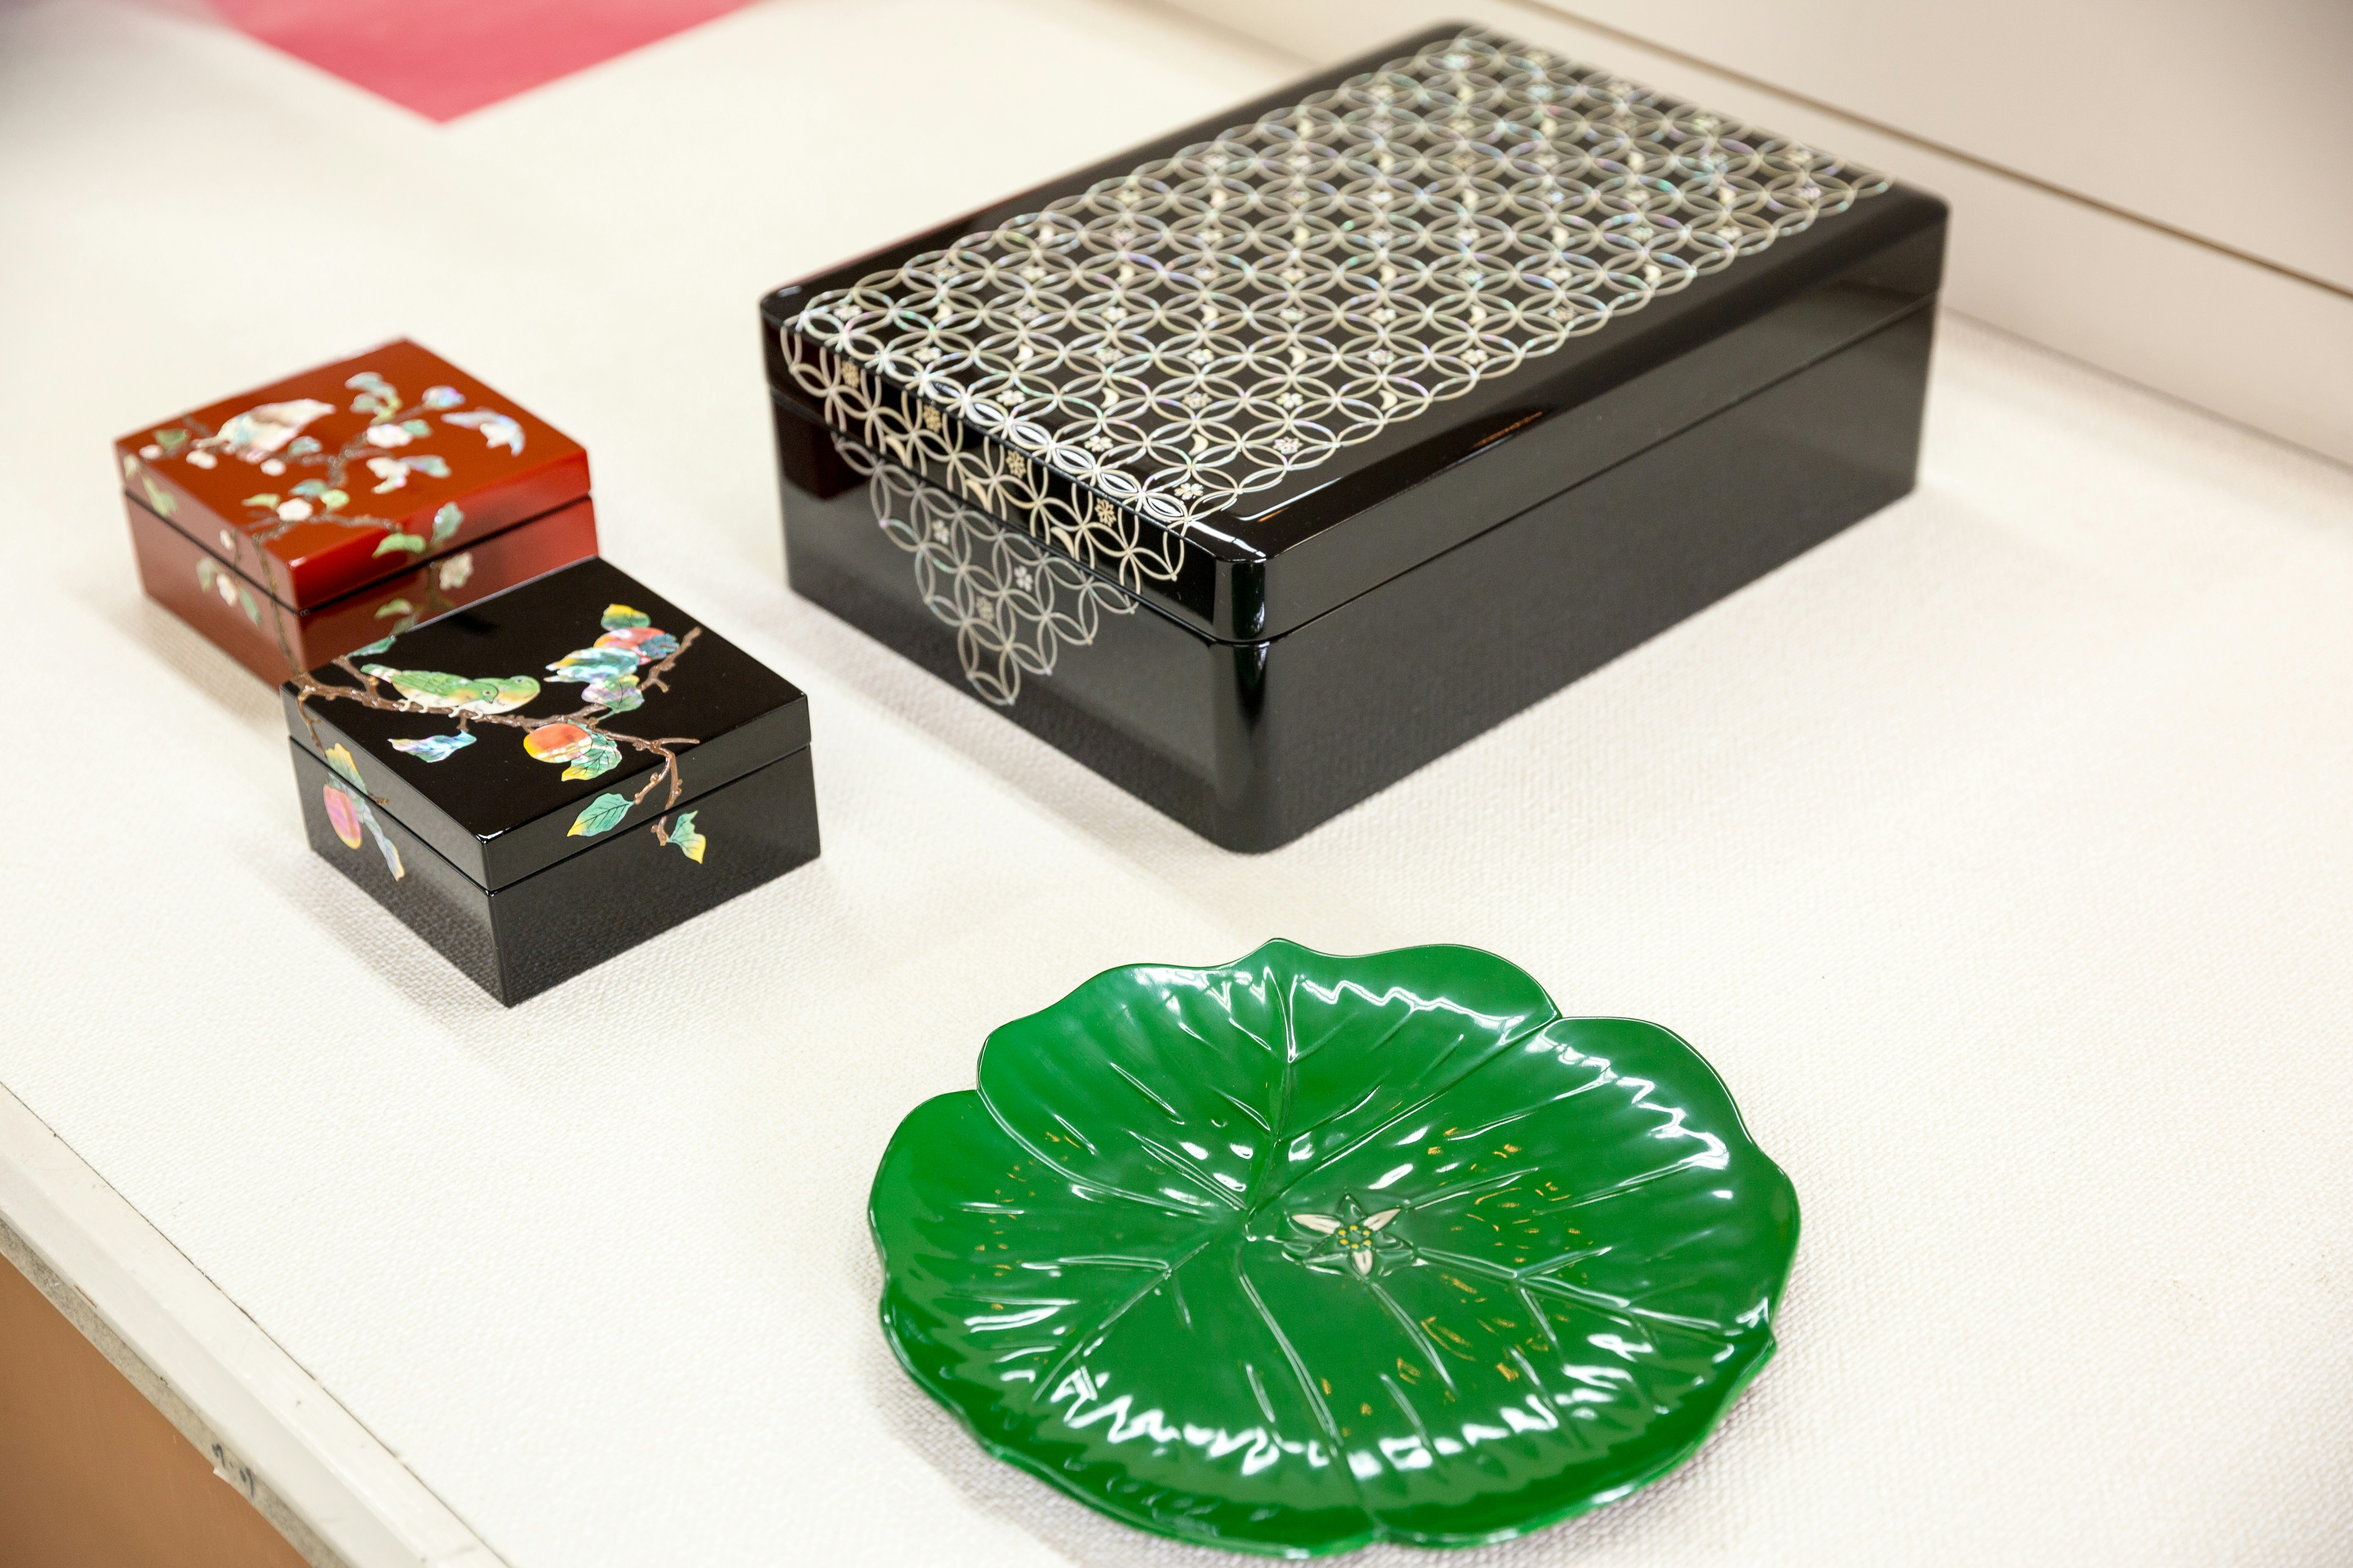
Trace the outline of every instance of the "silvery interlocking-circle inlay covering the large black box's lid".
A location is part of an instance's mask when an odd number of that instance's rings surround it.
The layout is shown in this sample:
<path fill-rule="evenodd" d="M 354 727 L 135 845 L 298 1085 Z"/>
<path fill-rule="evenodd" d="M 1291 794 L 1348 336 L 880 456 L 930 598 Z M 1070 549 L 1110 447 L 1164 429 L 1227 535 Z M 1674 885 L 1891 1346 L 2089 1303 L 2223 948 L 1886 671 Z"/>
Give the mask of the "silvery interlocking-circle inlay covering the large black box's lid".
<path fill-rule="evenodd" d="M 1464 33 L 819 294 L 784 348 L 835 428 L 1167 581 L 1235 498 L 1885 188 Z"/>

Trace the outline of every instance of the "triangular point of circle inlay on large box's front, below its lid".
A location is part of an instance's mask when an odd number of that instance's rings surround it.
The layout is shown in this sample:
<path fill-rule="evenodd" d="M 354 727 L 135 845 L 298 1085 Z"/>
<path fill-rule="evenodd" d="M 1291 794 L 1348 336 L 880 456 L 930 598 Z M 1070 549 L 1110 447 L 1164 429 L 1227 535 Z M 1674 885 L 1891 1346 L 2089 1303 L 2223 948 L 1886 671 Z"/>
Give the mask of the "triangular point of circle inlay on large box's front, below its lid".
<path fill-rule="evenodd" d="M 835 447 L 866 475 L 875 524 L 915 557 L 915 590 L 955 630 L 965 682 L 998 708 L 1021 696 L 1024 672 L 1052 675 L 1061 649 L 1094 642 L 1101 616 L 1134 614 L 1113 583 L 1031 536 L 856 442 Z"/>

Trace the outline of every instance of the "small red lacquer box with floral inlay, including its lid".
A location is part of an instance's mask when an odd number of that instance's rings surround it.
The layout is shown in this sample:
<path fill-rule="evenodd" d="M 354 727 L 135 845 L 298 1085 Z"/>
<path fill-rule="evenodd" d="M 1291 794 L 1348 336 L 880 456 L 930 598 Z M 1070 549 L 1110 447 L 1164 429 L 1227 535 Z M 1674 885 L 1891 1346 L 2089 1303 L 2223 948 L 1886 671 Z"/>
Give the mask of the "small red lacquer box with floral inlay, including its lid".
<path fill-rule="evenodd" d="M 148 595 L 266 682 L 598 550 L 581 444 L 407 341 L 115 458 Z"/>

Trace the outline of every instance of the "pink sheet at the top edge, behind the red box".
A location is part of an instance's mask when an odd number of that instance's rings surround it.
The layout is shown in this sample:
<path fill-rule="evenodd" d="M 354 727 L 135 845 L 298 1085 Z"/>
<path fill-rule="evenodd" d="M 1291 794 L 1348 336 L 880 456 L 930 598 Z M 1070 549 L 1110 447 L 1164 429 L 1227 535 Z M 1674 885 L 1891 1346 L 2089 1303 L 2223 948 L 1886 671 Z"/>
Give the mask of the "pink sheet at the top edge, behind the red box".
<path fill-rule="evenodd" d="M 240 33 L 433 120 L 511 99 L 744 0 L 212 0 Z"/>

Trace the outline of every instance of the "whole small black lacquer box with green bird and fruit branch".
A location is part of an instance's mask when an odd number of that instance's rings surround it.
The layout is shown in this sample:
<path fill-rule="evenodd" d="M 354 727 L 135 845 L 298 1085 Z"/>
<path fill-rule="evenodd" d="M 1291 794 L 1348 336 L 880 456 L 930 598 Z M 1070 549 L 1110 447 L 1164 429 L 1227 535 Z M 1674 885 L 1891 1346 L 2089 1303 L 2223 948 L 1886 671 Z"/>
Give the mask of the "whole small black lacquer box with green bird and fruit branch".
<path fill-rule="evenodd" d="M 508 1006 L 816 858 L 807 698 L 602 559 L 280 691 L 311 846 Z"/>

